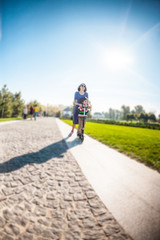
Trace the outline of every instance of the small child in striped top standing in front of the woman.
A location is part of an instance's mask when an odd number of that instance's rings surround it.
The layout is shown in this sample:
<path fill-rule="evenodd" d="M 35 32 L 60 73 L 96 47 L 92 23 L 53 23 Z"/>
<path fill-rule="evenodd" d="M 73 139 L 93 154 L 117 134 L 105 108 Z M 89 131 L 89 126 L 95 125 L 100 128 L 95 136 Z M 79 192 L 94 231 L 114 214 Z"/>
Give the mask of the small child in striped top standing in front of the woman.
<path fill-rule="evenodd" d="M 77 136 L 81 136 L 82 128 L 83 128 L 83 119 L 84 119 L 84 126 L 87 119 L 87 113 L 90 111 L 90 106 L 88 104 L 88 99 L 86 97 L 81 99 L 82 106 L 78 107 L 78 130 Z"/>

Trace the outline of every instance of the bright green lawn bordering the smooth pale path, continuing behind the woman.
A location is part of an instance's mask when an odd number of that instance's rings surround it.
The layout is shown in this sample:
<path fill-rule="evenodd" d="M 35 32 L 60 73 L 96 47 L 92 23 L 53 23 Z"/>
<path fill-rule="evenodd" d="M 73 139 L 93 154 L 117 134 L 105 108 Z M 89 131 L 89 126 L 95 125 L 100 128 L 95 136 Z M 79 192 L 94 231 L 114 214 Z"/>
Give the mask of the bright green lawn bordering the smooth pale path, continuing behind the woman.
<path fill-rule="evenodd" d="M 87 122 L 85 133 L 160 171 L 159 130 Z"/>

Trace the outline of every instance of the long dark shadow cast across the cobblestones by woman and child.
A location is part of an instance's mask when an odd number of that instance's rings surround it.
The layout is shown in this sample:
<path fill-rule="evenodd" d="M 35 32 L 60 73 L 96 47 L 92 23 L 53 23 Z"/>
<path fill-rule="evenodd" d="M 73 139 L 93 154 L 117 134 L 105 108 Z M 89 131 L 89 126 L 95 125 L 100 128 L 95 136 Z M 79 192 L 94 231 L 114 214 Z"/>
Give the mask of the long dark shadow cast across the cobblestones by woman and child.
<path fill-rule="evenodd" d="M 45 148 L 42 148 L 38 152 L 24 154 L 22 156 L 11 158 L 7 162 L 0 163 L 0 173 L 16 171 L 27 164 L 41 164 L 49 161 L 54 157 L 63 158 L 63 153 L 67 152 L 67 149 L 81 144 L 81 141 L 76 138 L 73 141 L 68 142 L 69 147 L 67 147 L 65 143 L 65 140 L 67 139 L 68 137 L 62 139 L 59 142 L 55 142 Z"/>

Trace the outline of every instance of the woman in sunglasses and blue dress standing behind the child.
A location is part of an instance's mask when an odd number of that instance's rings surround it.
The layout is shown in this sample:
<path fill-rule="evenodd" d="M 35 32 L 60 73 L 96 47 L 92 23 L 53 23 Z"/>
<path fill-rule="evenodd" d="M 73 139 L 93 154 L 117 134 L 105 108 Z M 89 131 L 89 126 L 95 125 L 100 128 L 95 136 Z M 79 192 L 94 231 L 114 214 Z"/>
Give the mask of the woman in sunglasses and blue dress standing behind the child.
<path fill-rule="evenodd" d="M 84 83 L 82 83 L 79 85 L 78 91 L 75 92 L 75 94 L 74 94 L 75 107 L 74 107 L 74 111 L 73 111 L 73 125 L 72 125 L 72 130 L 69 134 L 69 137 L 72 136 L 75 126 L 76 126 L 76 124 L 78 124 L 78 107 L 82 106 L 80 99 L 84 98 L 84 97 L 88 98 L 88 93 L 86 91 L 87 91 L 87 87 Z"/>

